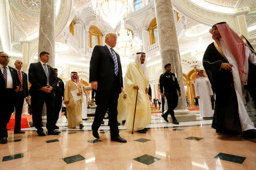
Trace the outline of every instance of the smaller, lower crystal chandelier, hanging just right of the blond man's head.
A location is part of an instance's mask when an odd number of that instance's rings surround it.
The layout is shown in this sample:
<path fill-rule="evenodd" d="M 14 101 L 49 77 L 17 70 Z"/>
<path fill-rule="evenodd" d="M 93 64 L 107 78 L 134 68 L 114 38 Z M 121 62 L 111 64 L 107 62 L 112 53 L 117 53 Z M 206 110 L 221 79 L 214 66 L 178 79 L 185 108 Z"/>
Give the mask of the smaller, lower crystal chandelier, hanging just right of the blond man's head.
<path fill-rule="evenodd" d="M 129 29 L 125 29 L 125 23 L 122 20 L 115 45 L 118 54 L 122 57 L 131 57 L 141 50 L 141 45 L 142 41 L 137 36 L 133 36 Z"/>

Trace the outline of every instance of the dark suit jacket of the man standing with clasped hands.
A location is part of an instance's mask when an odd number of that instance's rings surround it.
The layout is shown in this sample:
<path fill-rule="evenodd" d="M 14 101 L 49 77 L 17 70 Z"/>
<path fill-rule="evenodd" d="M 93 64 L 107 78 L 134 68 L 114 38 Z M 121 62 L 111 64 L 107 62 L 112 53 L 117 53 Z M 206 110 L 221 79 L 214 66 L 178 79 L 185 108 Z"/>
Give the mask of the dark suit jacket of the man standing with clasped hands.
<path fill-rule="evenodd" d="M 49 85 L 53 87 L 57 83 L 55 71 L 51 66 L 47 65 L 47 67 L 49 73 Z M 30 68 L 28 69 L 28 81 L 31 83 L 31 96 L 35 94 L 36 90 L 40 90 L 40 88 L 47 86 L 46 73 L 40 62 L 30 64 Z"/>

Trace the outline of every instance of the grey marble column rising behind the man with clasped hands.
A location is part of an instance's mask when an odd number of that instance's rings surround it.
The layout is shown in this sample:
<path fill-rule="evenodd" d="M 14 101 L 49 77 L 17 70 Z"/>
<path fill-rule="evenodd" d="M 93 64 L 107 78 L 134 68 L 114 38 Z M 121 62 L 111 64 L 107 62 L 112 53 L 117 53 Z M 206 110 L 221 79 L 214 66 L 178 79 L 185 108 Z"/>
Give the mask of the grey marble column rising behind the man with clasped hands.
<path fill-rule="evenodd" d="M 48 65 L 55 67 L 55 1 L 41 1 L 38 58 L 41 52 L 50 55 Z"/>

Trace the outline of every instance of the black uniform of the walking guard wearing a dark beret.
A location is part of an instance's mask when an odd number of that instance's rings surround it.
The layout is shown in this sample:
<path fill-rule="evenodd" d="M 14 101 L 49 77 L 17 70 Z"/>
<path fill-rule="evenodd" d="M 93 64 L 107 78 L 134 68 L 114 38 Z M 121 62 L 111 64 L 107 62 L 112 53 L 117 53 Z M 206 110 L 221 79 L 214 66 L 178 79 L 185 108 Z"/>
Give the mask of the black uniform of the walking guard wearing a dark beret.
<path fill-rule="evenodd" d="M 163 73 L 160 75 L 160 92 L 164 92 L 164 96 L 166 96 L 167 104 L 168 104 L 168 111 L 162 114 L 164 120 L 167 120 L 167 116 L 170 113 L 172 116 L 172 122 L 176 121 L 174 116 L 174 109 L 177 107 L 178 103 L 178 94 L 177 91 L 180 92 L 180 86 L 177 82 L 177 78 L 174 73 Z M 164 91 L 163 91 L 164 88 Z"/>

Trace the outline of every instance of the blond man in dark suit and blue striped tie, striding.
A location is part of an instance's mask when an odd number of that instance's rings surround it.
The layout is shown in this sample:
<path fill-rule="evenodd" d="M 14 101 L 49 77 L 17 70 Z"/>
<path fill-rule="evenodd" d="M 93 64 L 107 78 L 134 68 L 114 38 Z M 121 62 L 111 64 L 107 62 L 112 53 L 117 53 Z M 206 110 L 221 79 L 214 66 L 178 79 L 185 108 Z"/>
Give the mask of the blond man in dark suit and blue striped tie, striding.
<path fill-rule="evenodd" d="M 119 136 L 117 125 L 117 100 L 123 88 L 120 57 L 113 48 L 117 44 L 117 35 L 108 33 L 106 45 L 96 45 L 90 59 L 90 78 L 92 88 L 96 90 L 97 109 L 92 124 L 92 134 L 100 138 L 98 128 L 109 108 L 110 136 L 112 141 L 127 142 Z"/>

